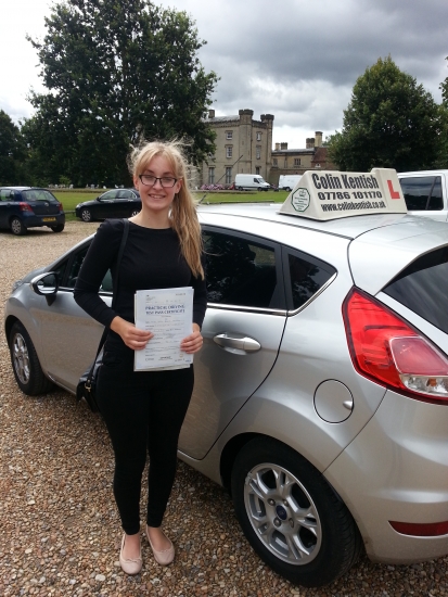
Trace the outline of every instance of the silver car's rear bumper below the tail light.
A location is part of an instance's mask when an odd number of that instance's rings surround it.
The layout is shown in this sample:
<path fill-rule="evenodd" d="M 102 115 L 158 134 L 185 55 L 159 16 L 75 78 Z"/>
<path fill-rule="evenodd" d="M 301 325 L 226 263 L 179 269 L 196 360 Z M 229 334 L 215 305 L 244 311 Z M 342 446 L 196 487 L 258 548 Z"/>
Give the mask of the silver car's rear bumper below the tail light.
<path fill-rule="evenodd" d="M 448 521 L 448 406 L 388 391 L 324 475 L 351 511 L 372 560 L 410 563 L 448 554 L 448 535 L 404 535 L 389 523 Z"/>

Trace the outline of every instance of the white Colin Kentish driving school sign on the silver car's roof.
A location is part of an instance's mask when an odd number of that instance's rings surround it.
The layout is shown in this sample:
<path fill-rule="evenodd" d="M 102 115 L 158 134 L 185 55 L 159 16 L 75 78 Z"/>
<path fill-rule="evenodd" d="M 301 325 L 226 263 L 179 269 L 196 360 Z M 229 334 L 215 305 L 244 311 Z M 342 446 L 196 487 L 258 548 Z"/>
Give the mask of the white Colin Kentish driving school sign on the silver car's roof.
<path fill-rule="evenodd" d="M 335 219 L 364 214 L 407 214 L 393 168 L 370 173 L 307 170 L 280 208 L 281 214 Z"/>

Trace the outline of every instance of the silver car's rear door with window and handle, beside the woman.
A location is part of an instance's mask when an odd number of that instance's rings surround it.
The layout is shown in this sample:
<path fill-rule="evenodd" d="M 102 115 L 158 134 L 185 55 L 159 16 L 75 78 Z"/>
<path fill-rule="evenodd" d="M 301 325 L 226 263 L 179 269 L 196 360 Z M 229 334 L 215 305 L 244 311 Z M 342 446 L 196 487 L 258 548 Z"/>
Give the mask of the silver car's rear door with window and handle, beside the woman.
<path fill-rule="evenodd" d="M 204 348 L 179 449 L 204 458 L 271 370 L 285 325 L 280 249 L 247 234 L 204 229 L 208 308 Z"/>

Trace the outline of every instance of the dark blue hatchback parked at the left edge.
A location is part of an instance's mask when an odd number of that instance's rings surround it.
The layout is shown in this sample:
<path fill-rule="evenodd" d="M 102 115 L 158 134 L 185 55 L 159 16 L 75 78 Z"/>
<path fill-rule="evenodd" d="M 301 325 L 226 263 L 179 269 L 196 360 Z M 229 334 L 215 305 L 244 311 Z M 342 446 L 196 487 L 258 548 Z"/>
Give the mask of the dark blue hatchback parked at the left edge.
<path fill-rule="evenodd" d="M 38 226 L 62 232 L 65 226 L 62 203 L 47 189 L 0 187 L 0 228 L 21 236 Z"/>

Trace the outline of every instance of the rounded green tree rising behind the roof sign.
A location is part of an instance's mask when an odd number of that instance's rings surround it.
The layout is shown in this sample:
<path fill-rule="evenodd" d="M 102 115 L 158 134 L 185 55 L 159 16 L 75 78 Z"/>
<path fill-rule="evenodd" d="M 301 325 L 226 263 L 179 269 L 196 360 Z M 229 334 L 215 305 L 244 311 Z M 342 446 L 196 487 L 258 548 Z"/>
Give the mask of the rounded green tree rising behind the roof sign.
<path fill-rule="evenodd" d="M 330 156 L 341 169 L 398 172 L 434 166 L 440 112 L 430 92 L 402 73 L 391 56 L 366 69 L 344 111 L 341 132 L 330 137 Z"/>

